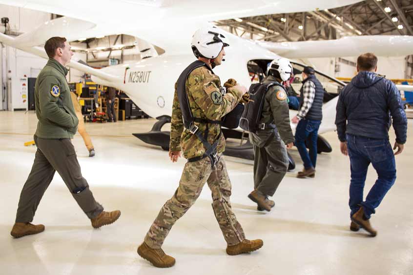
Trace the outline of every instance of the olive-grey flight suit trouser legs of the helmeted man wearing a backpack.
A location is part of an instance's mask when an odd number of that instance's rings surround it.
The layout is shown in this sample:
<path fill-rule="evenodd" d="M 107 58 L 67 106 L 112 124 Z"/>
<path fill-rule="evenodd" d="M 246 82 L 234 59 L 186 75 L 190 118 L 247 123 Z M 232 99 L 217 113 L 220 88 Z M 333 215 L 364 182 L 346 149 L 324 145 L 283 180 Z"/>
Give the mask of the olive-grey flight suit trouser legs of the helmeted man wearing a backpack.
<path fill-rule="evenodd" d="M 264 147 L 254 145 L 254 188 L 272 196 L 287 173 L 287 148 L 281 139 L 271 138 Z"/>

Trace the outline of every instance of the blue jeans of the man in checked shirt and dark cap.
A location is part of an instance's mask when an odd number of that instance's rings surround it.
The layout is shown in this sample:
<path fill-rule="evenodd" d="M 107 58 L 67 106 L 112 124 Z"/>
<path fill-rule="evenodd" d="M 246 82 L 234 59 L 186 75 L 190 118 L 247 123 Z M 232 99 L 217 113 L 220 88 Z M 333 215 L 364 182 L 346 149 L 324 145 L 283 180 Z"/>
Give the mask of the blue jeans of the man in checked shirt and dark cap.
<path fill-rule="evenodd" d="M 295 129 L 295 146 L 304 162 L 304 169 L 315 168 L 317 161 L 317 137 L 321 120 L 301 119 Z M 306 141 L 309 139 L 310 154 Z"/>

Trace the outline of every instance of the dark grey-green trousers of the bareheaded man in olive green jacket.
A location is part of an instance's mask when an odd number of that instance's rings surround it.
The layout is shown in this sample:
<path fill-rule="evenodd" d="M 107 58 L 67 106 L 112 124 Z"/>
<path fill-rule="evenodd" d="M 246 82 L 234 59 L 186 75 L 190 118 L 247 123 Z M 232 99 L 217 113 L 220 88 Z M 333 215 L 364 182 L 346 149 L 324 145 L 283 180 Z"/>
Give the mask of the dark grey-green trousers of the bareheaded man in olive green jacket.
<path fill-rule="evenodd" d="M 98 216 L 103 211 L 93 197 L 76 157 L 75 148 L 70 139 L 45 139 L 34 137 L 37 151 L 32 170 L 20 194 L 16 222 L 31 222 L 40 203 L 41 197 L 49 187 L 57 171 L 70 193 L 89 218 Z"/>

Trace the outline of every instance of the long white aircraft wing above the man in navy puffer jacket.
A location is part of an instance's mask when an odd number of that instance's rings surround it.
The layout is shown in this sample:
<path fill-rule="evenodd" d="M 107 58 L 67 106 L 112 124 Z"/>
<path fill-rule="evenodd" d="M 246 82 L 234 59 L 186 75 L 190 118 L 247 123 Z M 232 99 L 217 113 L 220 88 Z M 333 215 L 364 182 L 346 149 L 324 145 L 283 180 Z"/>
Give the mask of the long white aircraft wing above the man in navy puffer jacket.
<path fill-rule="evenodd" d="M 351 36 L 335 40 L 257 42 L 286 58 L 353 57 L 371 52 L 377 56 L 413 54 L 413 36 Z"/>

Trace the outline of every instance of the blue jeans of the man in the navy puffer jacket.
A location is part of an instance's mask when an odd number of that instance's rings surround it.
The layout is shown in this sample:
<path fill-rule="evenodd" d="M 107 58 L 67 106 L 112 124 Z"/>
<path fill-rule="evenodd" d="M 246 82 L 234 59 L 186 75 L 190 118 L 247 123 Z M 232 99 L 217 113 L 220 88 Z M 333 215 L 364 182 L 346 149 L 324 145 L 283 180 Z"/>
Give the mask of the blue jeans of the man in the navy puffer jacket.
<path fill-rule="evenodd" d="M 376 139 L 347 135 L 347 150 L 350 156 L 351 181 L 349 206 L 352 216 L 360 206 L 370 218 L 396 180 L 396 162 L 388 139 Z M 377 172 L 377 180 L 363 201 L 363 189 L 370 163 Z"/>

